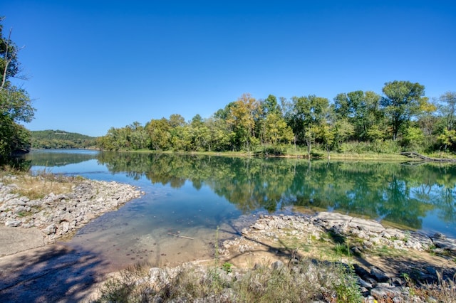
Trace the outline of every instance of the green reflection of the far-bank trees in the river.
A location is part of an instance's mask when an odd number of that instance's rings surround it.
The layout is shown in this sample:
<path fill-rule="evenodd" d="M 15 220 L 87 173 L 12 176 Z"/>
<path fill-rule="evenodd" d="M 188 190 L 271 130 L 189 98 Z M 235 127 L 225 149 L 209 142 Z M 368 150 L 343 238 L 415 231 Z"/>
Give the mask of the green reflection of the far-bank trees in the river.
<path fill-rule="evenodd" d="M 98 161 L 152 184 L 209 186 L 244 213 L 305 206 L 416 229 L 432 214 L 449 227 L 445 233 L 456 235 L 455 166 L 112 152 L 98 154 Z"/>

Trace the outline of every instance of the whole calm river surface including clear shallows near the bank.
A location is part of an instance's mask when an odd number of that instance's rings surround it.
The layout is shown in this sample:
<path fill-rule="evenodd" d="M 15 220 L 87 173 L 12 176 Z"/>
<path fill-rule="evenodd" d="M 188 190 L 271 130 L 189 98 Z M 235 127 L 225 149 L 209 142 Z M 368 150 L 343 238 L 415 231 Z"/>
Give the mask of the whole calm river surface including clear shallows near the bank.
<path fill-rule="evenodd" d="M 338 211 L 456 237 L 456 166 L 81 150 L 33 151 L 28 159 L 33 171 L 145 191 L 71 240 L 119 264 L 204 259 L 217 226 L 226 238 L 239 233 L 240 216 L 258 212 Z"/>

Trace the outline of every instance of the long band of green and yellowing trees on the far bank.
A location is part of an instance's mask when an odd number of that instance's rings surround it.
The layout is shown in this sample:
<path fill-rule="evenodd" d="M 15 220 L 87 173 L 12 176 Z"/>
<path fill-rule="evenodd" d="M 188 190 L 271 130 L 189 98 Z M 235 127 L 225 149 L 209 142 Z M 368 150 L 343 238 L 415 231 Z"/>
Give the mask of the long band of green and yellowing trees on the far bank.
<path fill-rule="evenodd" d="M 211 117 L 182 115 L 111 127 L 98 137 L 104 150 L 247 151 L 306 156 L 338 153 L 452 153 L 456 149 L 456 92 L 425 97 L 420 83 L 395 80 L 382 94 L 339 93 L 255 99 L 246 93 Z"/>

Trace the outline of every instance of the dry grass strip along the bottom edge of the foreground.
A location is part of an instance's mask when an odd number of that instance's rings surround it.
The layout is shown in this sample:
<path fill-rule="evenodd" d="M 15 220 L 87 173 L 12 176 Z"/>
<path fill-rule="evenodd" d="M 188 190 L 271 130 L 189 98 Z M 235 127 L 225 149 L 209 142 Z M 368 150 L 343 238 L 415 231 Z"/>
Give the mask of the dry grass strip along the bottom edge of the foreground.
<path fill-rule="evenodd" d="M 146 272 L 139 266 L 128 268 L 101 287 L 95 302 L 156 302 L 158 297 L 161 302 L 362 301 L 353 272 L 337 263 L 304 260 L 291 269 L 257 264 L 232 272 L 185 265 L 172 275 L 162 270 L 158 280 Z"/>

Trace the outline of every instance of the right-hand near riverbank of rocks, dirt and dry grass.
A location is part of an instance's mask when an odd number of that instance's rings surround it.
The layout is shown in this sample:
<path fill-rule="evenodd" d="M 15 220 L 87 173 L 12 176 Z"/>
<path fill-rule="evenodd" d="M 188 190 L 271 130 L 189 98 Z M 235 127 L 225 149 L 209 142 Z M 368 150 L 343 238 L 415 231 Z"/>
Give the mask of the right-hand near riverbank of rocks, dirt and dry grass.
<path fill-rule="evenodd" d="M 204 265 L 130 268 L 99 301 L 455 302 L 456 242 L 442 234 L 328 212 L 261 215 L 240 232 Z"/>

